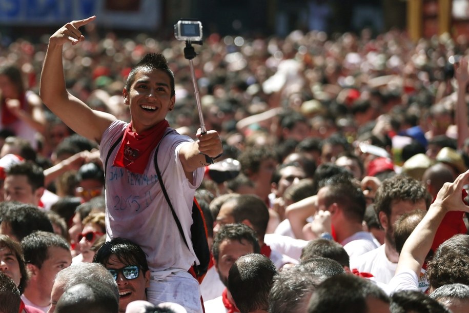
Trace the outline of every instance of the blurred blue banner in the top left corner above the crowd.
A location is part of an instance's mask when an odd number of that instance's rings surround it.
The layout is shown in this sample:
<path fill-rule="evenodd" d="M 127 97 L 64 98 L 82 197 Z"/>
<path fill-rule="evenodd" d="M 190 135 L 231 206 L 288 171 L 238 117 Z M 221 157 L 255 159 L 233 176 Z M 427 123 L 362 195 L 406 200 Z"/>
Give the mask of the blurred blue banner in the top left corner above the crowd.
<path fill-rule="evenodd" d="M 0 25 L 54 26 L 96 15 L 103 27 L 155 30 L 161 0 L 0 0 Z"/>

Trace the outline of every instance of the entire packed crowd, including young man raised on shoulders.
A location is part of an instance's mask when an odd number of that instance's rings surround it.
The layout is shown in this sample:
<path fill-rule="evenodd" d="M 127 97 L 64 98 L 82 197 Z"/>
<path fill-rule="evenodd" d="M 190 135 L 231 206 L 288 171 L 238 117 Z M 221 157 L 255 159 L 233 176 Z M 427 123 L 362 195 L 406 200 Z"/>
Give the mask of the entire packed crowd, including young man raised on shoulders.
<path fill-rule="evenodd" d="M 469 311 L 465 37 L 210 34 L 201 133 L 183 43 L 95 18 L 0 47 L 0 311 Z"/>

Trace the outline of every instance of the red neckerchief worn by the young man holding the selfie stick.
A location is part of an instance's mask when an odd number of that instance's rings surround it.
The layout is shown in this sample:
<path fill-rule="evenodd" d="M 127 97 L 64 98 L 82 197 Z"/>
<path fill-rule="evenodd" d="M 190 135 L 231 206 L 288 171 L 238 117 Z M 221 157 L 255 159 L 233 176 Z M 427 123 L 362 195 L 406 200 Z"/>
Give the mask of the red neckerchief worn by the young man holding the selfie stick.
<path fill-rule="evenodd" d="M 124 137 L 112 165 L 143 174 L 151 152 L 158 145 L 168 127 L 168 121 L 162 120 L 152 128 L 137 134 L 132 131 L 132 122 L 130 122 L 124 131 Z"/>

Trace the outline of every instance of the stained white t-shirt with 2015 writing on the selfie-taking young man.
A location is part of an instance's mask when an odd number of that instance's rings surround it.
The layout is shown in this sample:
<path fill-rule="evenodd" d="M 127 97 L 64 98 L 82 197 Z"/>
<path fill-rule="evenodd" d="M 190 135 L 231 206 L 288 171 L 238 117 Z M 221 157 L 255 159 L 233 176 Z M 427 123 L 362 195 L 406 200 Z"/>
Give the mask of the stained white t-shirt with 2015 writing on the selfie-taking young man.
<path fill-rule="evenodd" d="M 111 146 L 128 126 L 114 121 L 103 134 L 100 158 L 106 163 Z M 173 129 L 166 130 L 161 140 L 158 167 L 172 206 L 181 223 L 186 241 L 191 243 L 192 203 L 195 189 L 203 178 L 203 168 L 193 172 L 189 182 L 178 157 L 180 147 L 193 142 Z M 161 191 L 154 165 L 153 151 L 144 174 L 137 174 L 113 161 L 119 145 L 110 154 L 106 168 L 106 232 L 107 239 L 122 237 L 138 244 L 147 254 L 152 279 L 164 279 L 171 273 L 187 271 L 196 260 L 192 245 L 189 249 L 181 239 L 171 209 Z"/>

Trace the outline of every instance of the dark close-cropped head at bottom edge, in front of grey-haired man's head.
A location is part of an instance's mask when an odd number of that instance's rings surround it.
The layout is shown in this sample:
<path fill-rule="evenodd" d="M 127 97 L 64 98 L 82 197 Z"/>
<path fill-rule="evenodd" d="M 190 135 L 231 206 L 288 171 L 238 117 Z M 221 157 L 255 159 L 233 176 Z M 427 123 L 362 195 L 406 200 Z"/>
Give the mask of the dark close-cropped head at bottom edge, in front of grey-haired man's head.
<path fill-rule="evenodd" d="M 81 283 L 64 292 L 55 306 L 55 313 L 117 313 L 119 300 L 104 284 Z"/>

